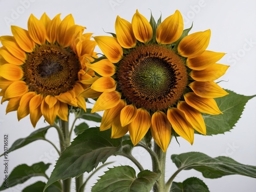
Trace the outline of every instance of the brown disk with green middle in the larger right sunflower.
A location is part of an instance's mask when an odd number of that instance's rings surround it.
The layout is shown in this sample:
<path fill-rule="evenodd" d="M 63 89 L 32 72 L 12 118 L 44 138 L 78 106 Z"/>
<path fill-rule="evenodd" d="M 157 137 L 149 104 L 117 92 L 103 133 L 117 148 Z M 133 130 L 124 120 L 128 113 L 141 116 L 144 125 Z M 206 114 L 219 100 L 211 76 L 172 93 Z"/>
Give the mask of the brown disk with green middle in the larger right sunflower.
<path fill-rule="evenodd" d="M 137 108 L 167 109 L 177 103 L 186 86 L 184 61 L 163 46 L 137 47 L 120 62 L 118 88 Z"/>

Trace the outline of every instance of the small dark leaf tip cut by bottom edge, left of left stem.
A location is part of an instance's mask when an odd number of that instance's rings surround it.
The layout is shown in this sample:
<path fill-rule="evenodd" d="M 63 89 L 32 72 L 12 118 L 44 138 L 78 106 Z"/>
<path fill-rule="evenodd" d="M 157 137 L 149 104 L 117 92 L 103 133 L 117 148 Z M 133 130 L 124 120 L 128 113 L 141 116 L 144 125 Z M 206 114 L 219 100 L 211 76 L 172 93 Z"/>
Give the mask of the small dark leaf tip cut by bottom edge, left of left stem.
<path fill-rule="evenodd" d="M 43 191 L 46 186 L 45 182 L 42 181 L 37 181 L 36 183 L 33 183 L 32 185 L 27 186 L 26 188 L 23 189 L 22 192 L 36 192 L 36 191 Z M 50 185 L 46 192 L 61 192 L 61 186 L 59 182 L 55 182 L 52 185 Z"/>

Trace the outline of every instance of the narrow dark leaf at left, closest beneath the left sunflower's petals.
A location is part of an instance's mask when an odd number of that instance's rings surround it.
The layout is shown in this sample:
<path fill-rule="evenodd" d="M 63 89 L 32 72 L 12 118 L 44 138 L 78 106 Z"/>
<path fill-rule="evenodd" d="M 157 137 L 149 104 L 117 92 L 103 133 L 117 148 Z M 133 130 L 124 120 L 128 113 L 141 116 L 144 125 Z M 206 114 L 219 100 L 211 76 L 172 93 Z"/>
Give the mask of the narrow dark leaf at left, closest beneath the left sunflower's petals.
<path fill-rule="evenodd" d="M 33 133 L 31 133 L 28 137 L 26 138 L 21 138 L 21 139 L 17 139 L 12 146 L 9 148 L 8 153 L 17 150 L 18 148 L 21 148 L 29 143 L 32 143 L 33 141 L 37 141 L 39 139 L 45 140 L 45 135 L 48 131 L 49 128 L 51 128 L 52 126 L 46 126 L 44 128 L 38 129 L 36 131 L 34 131 Z M 4 154 L 2 154 L 1 156 L 3 156 Z M 1 157 L 0 156 L 0 157 Z"/>

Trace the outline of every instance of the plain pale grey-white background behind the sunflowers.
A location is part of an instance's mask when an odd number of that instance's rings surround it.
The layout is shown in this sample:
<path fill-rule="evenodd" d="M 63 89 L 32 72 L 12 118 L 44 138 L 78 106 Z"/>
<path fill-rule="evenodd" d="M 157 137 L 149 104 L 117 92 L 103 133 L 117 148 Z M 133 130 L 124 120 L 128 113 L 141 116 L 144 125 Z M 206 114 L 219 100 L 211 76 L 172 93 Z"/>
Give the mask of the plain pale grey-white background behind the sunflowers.
<path fill-rule="evenodd" d="M 136 9 L 146 18 L 150 19 L 152 11 L 155 19 L 162 13 L 162 20 L 180 10 L 184 18 L 184 28 L 189 28 L 193 22 L 190 33 L 211 29 L 211 39 L 208 50 L 227 53 L 220 61 L 229 65 L 227 73 L 221 78 L 225 82 L 221 86 L 236 93 L 255 95 L 256 86 L 256 2 L 245 1 L 221 1 L 221 0 L 182 0 L 182 1 L 146 1 L 146 0 L 96 0 L 96 1 L 54 1 L 54 0 L 0 0 L 0 36 L 12 35 L 11 25 L 27 29 L 27 20 L 31 13 L 40 18 L 46 12 L 50 18 L 61 13 L 63 19 L 72 13 L 76 24 L 86 26 L 86 32 L 94 35 L 105 35 L 103 32 L 115 32 L 114 24 L 116 16 L 129 20 Z M 151 11 L 150 11 L 151 10 Z M 99 51 L 99 49 L 97 49 Z M 17 121 L 16 112 L 6 115 L 7 102 L 0 105 L 0 153 L 3 153 L 4 134 L 9 135 L 10 145 L 18 138 L 27 137 L 34 131 L 29 117 L 20 122 Z M 170 143 L 167 151 L 166 179 L 172 175 L 176 166 L 170 160 L 170 155 L 184 152 L 197 151 L 211 157 L 228 156 L 243 163 L 256 165 L 256 99 L 253 98 L 245 106 L 245 110 L 239 122 L 233 130 L 217 136 L 195 136 L 193 146 L 187 141 L 179 139 L 180 146 L 175 140 Z M 99 125 L 88 122 L 91 126 Z M 35 129 L 47 124 L 40 119 Z M 58 144 L 58 136 L 54 129 L 50 129 L 47 138 Z M 9 146 L 10 146 L 9 145 Z M 145 164 L 145 168 L 151 169 L 150 157 L 140 148 L 134 152 L 136 158 Z M 57 160 L 57 154 L 53 147 L 44 141 L 36 141 L 9 154 L 9 170 L 18 164 L 32 165 L 35 162 L 44 161 L 52 163 L 47 174 L 53 169 Z M 112 157 L 110 161 L 116 161 L 114 165 L 133 164 L 125 158 Z M 3 157 L 0 158 L 0 183 L 3 181 Z M 110 165 L 112 166 L 112 165 Z M 106 170 L 106 169 L 105 169 Z M 102 175 L 99 172 L 97 175 Z M 85 177 L 87 174 L 85 174 Z M 201 173 L 194 170 L 184 170 L 175 181 L 183 181 L 188 177 L 202 179 L 212 192 L 224 191 L 256 191 L 256 180 L 245 176 L 225 176 L 220 179 L 204 179 Z M 96 182 L 97 177 L 90 180 L 90 185 Z M 24 184 L 10 188 L 7 191 L 21 191 L 27 184 L 36 180 L 46 179 L 37 177 Z M 73 182 L 74 186 L 74 182 Z M 73 187 L 72 191 L 75 191 Z M 87 186 L 86 191 L 90 191 Z"/>

